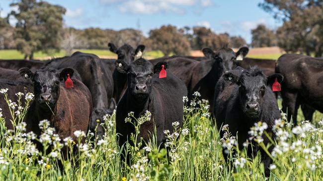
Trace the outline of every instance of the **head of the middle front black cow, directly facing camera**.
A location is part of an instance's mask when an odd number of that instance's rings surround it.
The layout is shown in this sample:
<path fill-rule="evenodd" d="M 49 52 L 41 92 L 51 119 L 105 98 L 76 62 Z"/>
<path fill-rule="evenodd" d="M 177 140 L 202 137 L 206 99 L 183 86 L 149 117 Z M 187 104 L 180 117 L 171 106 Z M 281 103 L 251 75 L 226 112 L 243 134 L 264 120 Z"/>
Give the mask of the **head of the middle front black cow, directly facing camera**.
<path fill-rule="evenodd" d="M 129 66 L 119 66 L 123 64 L 122 60 L 116 60 L 115 66 L 121 73 L 128 75 L 128 88 L 129 91 L 137 100 L 145 100 L 148 98 L 152 91 L 152 79 L 154 73 L 161 70 L 161 65 L 164 69 L 167 68 L 166 62 L 160 62 L 155 67 L 153 64 L 143 58 L 133 61 Z"/>

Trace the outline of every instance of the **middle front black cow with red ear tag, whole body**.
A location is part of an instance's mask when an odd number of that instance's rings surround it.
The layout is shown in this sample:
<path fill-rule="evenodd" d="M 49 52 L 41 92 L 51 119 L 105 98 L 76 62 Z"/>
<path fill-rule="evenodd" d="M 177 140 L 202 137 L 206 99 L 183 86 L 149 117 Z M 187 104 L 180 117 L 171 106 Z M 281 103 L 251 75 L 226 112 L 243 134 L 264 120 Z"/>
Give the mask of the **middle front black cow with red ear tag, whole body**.
<path fill-rule="evenodd" d="M 119 64 L 122 66 L 119 66 Z M 164 130 L 173 131 L 172 123 L 183 123 L 183 96 L 187 95 L 184 83 L 167 72 L 166 78 L 159 79 L 161 66 L 167 68 L 166 62 L 160 62 L 153 66 L 149 61 L 140 58 L 130 65 L 123 65 L 122 60 L 116 61 L 116 69 L 128 76 L 128 87 L 120 99 L 116 113 L 116 133 L 119 136 L 119 145 L 123 145 L 134 133 L 134 126 L 125 123 L 129 112 L 139 118 L 150 111 L 151 120 L 145 122 L 140 128 L 139 137 L 146 142 L 154 134 L 154 125 L 157 131 L 157 143 L 160 145 L 165 140 Z"/>

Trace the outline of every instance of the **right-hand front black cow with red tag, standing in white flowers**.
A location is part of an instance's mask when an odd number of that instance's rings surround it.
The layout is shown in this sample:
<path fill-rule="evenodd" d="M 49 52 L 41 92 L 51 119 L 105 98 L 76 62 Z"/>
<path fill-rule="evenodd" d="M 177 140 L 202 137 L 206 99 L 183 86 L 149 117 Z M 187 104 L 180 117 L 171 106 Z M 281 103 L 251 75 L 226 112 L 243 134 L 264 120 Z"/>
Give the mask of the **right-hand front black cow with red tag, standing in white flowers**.
<path fill-rule="evenodd" d="M 271 85 L 275 78 L 279 82 L 282 81 L 280 74 L 270 77 L 257 68 L 252 67 L 249 70 L 236 69 L 224 73 L 216 85 L 215 107 L 213 112 L 220 130 L 221 126 L 228 124 L 229 132 L 233 136 L 237 136 L 238 146 L 243 148 L 243 142 L 248 139 L 248 131 L 254 126 L 254 123 L 261 121 L 268 125 L 267 133 L 272 132 L 274 120 L 280 118 L 280 111 L 277 100 L 271 90 Z M 223 87 L 224 86 L 224 87 Z M 221 137 L 224 132 L 220 130 Z M 264 143 L 269 143 L 269 139 L 263 136 Z M 253 142 L 253 145 L 256 145 Z M 272 147 L 269 148 L 271 150 Z M 253 152 L 248 149 L 248 156 L 257 153 L 258 148 L 254 148 Z M 266 168 L 266 176 L 270 175 L 269 165 L 272 162 L 270 157 L 262 150 L 259 150 Z M 227 153 L 223 151 L 224 157 L 227 159 Z"/>

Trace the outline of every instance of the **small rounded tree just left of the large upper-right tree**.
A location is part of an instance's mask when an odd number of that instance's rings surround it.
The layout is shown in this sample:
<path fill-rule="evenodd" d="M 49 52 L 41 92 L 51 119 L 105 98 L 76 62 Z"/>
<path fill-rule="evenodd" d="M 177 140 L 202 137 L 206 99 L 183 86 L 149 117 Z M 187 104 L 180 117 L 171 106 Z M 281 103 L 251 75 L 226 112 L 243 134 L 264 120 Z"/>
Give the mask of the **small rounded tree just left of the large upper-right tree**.
<path fill-rule="evenodd" d="M 252 47 L 267 47 L 277 45 L 275 32 L 268 29 L 263 24 L 259 24 L 255 29 L 252 29 L 251 35 Z"/>

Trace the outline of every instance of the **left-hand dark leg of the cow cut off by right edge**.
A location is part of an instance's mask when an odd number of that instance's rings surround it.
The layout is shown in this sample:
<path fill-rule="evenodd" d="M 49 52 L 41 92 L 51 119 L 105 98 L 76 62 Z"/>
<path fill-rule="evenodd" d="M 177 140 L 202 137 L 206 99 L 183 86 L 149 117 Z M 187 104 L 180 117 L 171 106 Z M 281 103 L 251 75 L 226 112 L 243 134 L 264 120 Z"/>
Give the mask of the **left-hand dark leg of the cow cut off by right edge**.
<path fill-rule="evenodd" d="M 297 109 L 296 106 L 297 102 L 297 93 L 291 92 L 282 92 L 283 98 L 283 112 L 287 114 L 287 120 L 290 121 L 293 118 L 294 125 L 297 125 Z M 296 110 L 296 111 L 295 111 Z"/>

